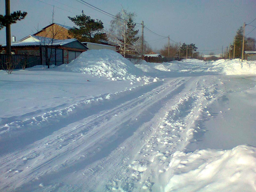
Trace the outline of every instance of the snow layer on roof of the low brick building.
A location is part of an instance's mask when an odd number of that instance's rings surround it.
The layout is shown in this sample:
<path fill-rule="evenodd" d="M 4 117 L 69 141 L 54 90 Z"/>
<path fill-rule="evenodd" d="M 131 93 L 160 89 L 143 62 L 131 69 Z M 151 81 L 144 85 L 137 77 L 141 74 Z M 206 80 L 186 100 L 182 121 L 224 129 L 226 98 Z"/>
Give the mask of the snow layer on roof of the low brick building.
<path fill-rule="evenodd" d="M 35 36 L 35 35 L 29 35 L 29 36 L 35 39 L 38 39 L 39 41 L 11 42 L 11 46 L 38 46 L 38 45 L 61 46 L 67 43 L 71 43 L 73 41 L 77 41 L 77 39 L 52 39 L 48 37 L 41 37 L 41 36 Z M 6 44 L 2 46 L 6 46 Z"/>

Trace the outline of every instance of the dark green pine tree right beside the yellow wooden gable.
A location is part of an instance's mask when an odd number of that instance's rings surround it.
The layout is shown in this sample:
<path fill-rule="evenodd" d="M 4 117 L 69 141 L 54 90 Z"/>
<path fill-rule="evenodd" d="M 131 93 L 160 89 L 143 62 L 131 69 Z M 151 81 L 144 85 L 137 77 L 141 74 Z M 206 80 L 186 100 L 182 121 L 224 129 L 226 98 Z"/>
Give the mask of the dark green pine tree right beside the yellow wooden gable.
<path fill-rule="evenodd" d="M 68 17 L 78 27 L 73 27 L 69 30 L 76 39 L 81 42 L 99 43 L 100 40 L 106 40 L 106 33 L 102 33 L 104 26 L 101 20 L 91 19 L 83 13 L 75 17 Z"/>

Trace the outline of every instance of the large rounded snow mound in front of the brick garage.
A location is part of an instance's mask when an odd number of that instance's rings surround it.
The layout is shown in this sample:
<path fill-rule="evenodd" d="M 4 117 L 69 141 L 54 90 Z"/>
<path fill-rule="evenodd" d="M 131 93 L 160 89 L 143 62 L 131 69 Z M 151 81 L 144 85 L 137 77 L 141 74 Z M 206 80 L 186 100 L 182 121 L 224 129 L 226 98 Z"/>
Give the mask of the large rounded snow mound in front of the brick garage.
<path fill-rule="evenodd" d="M 63 69 L 73 72 L 88 73 L 116 80 L 135 80 L 137 78 L 148 82 L 143 72 L 128 59 L 113 50 L 101 49 L 85 51 L 74 61 L 63 65 Z M 152 79 L 153 80 L 153 79 Z"/>

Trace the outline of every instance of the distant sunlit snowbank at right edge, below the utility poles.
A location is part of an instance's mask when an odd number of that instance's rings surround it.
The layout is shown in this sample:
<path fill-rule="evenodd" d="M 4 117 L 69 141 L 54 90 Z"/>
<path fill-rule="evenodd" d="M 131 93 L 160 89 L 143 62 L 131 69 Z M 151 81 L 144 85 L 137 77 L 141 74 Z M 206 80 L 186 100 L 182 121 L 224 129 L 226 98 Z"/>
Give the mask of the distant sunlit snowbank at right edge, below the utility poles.
<path fill-rule="evenodd" d="M 241 59 L 224 60 L 213 62 L 213 67 L 208 71 L 218 71 L 224 75 L 250 75 L 256 74 L 256 61 L 241 62 Z"/>

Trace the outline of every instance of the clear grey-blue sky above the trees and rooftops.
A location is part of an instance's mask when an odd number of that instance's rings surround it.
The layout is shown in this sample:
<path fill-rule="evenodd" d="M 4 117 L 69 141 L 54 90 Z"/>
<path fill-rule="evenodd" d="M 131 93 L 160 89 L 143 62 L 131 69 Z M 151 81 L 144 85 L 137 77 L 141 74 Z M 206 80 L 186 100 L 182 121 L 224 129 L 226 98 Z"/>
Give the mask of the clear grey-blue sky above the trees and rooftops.
<path fill-rule="evenodd" d="M 52 10 L 55 6 L 54 22 L 73 26 L 67 18 L 81 14 L 84 10 L 86 15 L 93 19 L 101 19 L 104 27 L 109 29 L 111 17 L 99 13 L 82 3 L 80 0 L 10 0 L 11 12 L 16 10 L 26 11 L 27 17 L 11 25 L 11 35 L 19 40 L 33 34 L 37 28 L 41 29 L 51 23 Z M 123 1 L 123 0 L 85 0 L 113 15 L 122 7 L 137 16 L 134 22 L 141 23 L 162 36 L 170 35 L 170 38 L 181 43 L 195 43 L 200 53 L 221 53 L 221 48 L 233 43 L 237 29 L 243 23 L 250 23 L 256 18 L 256 1 Z M 44 2 L 44 3 L 43 3 Z M 49 5 L 50 4 L 50 5 Z M 65 5 L 64 5 L 65 4 Z M 61 9 L 59 9 L 59 8 Z M 64 10 L 63 10 L 64 9 Z M 5 1 L 0 0 L 0 14 L 5 15 Z M 256 26 L 256 20 L 250 25 Z M 141 25 L 137 25 L 141 34 Z M 254 27 L 246 26 L 246 34 Z M 256 38 L 256 29 L 249 37 Z M 153 48 L 161 49 L 168 39 L 150 33 L 144 29 L 144 38 Z M 0 44 L 5 44 L 5 28 L 0 30 Z M 223 48 L 224 49 L 224 48 Z"/>

